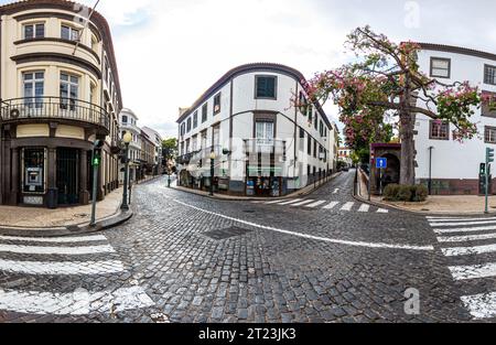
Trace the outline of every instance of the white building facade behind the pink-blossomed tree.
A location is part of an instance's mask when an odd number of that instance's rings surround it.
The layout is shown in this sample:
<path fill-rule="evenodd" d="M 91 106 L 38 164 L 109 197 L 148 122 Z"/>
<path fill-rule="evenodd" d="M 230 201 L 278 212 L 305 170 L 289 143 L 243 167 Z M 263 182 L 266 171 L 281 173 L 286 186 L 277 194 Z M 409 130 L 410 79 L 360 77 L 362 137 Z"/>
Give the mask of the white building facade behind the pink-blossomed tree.
<path fill-rule="evenodd" d="M 496 54 L 463 47 L 421 43 L 420 69 L 444 84 L 468 80 L 483 93 L 496 94 Z M 419 101 L 419 106 L 423 106 Z M 454 127 L 417 115 L 417 179 L 432 184 L 432 194 L 479 194 L 479 166 L 486 148 L 496 149 L 496 111 L 474 109 L 478 138 L 460 143 Z M 495 186 L 495 183 L 493 183 Z M 494 190 L 496 191 L 496 190 Z"/>

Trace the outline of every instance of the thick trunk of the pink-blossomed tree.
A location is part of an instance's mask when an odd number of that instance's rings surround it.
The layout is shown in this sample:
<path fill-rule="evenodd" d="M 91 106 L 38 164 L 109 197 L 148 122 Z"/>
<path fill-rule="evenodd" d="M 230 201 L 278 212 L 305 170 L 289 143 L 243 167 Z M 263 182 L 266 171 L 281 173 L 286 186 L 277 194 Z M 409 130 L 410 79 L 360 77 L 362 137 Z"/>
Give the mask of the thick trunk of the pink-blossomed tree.
<path fill-rule="evenodd" d="M 416 143 L 413 140 L 414 115 L 408 110 L 400 111 L 401 170 L 400 184 L 416 184 Z"/>

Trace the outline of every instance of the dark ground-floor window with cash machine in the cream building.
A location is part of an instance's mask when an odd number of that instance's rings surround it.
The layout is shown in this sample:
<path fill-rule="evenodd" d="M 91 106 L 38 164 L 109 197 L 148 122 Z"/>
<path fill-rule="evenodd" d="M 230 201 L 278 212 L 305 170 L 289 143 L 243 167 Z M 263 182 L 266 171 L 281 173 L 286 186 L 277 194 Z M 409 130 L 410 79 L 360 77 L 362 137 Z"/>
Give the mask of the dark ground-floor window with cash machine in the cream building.
<path fill-rule="evenodd" d="M 44 193 L 45 192 L 45 150 L 23 149 L 23 192 Z"/>

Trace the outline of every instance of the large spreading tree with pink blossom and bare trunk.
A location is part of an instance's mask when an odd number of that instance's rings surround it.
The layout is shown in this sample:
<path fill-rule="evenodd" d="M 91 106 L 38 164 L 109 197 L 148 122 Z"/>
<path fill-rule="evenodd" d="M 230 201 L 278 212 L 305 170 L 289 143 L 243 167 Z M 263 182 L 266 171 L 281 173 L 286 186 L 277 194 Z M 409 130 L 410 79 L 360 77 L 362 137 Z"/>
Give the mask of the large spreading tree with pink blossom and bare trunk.
<path fill-rule="evenodd" d="M 417 43 L 396 44 L 365 26 L 354 30 L 345 46 L 356 54 L 356 62 L 317 73 L 305 83 L 308 97 L 321 103 L 331 99 L 338 106 L 352 148 L 382 141 L 396 128 L 401 140 L 401 184 L 416 182 L 417 114 L 452 123 L 454 138 L 463 141 L 477 134 L 471 121 L 475 110 L 483 103 L 494 107 L 494 97 L 468 82 L 446 85 L 420 72 Z"/>

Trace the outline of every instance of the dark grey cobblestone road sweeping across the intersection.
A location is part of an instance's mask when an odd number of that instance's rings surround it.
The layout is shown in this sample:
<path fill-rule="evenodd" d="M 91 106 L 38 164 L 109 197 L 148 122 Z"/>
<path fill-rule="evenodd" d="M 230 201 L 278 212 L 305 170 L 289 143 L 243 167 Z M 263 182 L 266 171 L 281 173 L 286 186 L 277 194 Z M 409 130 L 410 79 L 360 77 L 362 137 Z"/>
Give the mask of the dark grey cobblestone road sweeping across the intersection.
<path fill-rule="evenodd" d="M 453 279 L 425 217 L 323 207 L 356 203 L 353 177 L 304 197 L 321 207 L 213 201 L 161 179 L 138 186 L 136 217 L 104 234 L 0 237 L 0 322 L 474 320 L 463 299 L 484 288 Z"/>

